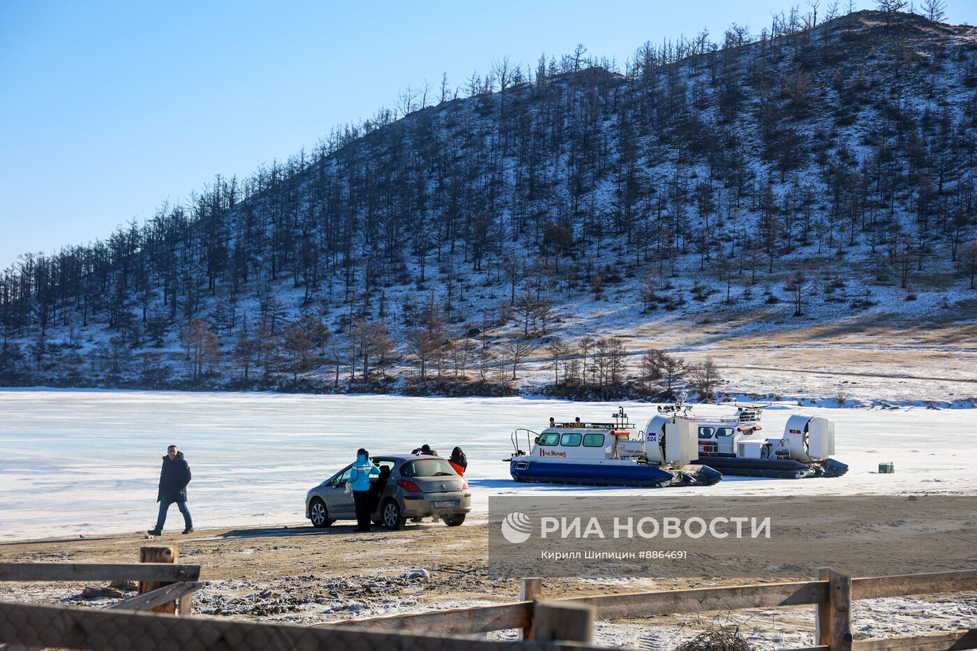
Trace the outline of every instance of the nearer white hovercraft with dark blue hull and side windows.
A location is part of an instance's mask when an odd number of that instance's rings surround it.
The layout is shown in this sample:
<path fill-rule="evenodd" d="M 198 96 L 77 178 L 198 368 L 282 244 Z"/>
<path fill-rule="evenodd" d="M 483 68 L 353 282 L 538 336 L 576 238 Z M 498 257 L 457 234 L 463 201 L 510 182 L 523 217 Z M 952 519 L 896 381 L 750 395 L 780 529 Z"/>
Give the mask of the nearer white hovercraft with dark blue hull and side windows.
<path fill-rule="evenodd" d="M 517 429 L 512 433 L 515 452 L 506 459 L 517 482 L 578 486 L 711 486 L 722 474 L 699 463 L 695 433 L 676 435 L 671 445 L 632 438 L 634 425 L 618 408 L 615 422 L 556 422 L 540 433 Z M 527 454 L 521 449 L 526 436 Z"/>

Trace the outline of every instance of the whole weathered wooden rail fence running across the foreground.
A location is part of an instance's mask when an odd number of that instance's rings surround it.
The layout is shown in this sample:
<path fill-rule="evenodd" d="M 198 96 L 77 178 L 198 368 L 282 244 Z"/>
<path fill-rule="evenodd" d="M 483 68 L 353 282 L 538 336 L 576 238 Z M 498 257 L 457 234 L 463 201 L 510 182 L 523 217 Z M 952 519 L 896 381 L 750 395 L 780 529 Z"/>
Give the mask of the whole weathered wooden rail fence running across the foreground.
<path fill-rule="evenodd" d="M 157 548 L 158 549 L 158 548 Z M 162 553 L 162 552 L 161 552 Z M 142 555 L 142 554 L 141 554 Z M 151 554 L 149 554 L 151 556 Z M 173 549 L 173 560 L 176 550 Z M 977 629 L 855 640 L 852 602 L 977 589 L 977 570 L 893 577 L 852 578 L 819 570 L 814 581 L 704 587 L 666 592 L 631 592 L 542 599 L 542 582 L 524 579 L 520 601 L 316 627 L 257 624 L 166 614 L 118 612 L 172 602 L 195 586 L 199 567 L 147 562 L 131 565 L 0 564 L 0 580 L 116 581 L 165 583 L 96 610 L 70 606 L 0 603 L 0 648 L 5 651 L 59 646 L 73 649 L 325 649 L 392 648 L 402 651 L 525 651 L 525 642 L 461 637 L 490 630 L 519 629 L 533 649 L 593 649 L 593 622 L 600 619 L 816 606 L 815 646 L 796 651 L 958 651 L 977 649 Z M 149 587 L 149 586 L 148 586 Z M 161 591 L 162 590 L 162 591 Z M 151 595 L 151 596 L 150 596 Z M 141 599 L 141 601 L 137 601 Z M 189 599 L 188 599 L 189 603 Z M 128 604 L 124 606 L 123 604 Z M 172 611 L 170 611 L 172 612 Z M 186 615 L 186 612 L 183 613 Z"/>

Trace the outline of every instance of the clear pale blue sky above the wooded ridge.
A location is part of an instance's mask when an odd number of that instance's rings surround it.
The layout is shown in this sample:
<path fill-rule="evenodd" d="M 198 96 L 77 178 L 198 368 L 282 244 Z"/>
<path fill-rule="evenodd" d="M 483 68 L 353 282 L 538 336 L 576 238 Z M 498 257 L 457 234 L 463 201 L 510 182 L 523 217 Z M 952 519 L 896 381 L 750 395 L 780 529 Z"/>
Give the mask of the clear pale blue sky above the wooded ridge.
<path fill-rule="evenodd" d="M 0 268 L 309 149 L 408 83 L 577 43 L 623 61 L 703 26 L 759 31 L 789 4 L 0 0 Z M 949 22 L 977 18 L 973 0 L 949 5 Z"/>

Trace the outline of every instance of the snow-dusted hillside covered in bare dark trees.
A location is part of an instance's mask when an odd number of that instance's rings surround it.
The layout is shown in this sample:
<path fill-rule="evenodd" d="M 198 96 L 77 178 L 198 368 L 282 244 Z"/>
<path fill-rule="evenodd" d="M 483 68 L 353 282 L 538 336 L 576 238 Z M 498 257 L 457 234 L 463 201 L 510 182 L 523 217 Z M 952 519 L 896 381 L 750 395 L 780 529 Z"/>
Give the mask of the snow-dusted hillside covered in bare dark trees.
<path fill-rule="evenodd" d="M 503 60 L 469 97 L 404 93 L 403 117 L 22 256 L 0 383 L 845 392 L 755 367 L 973 397 L 977 29 L 811 23 L 646 44 L 623 69 Z"/>

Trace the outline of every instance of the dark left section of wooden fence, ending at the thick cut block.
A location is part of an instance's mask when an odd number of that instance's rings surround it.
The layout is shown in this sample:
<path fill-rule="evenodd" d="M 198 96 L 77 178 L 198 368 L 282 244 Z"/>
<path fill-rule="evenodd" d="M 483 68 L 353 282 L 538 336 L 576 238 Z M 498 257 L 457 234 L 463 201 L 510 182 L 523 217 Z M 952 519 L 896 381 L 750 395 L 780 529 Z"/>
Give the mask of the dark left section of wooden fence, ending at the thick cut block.
<path fill-rule="evenodd" d="M 445 637 L 437 631 L 411 634 L 343 627 L 313 629 L 187 617 L 191 593 L 199 586 L 200 566 L 176 564 L 177 557 L 175 545 L 144 546 L 140 549 L 140 563 L 0 563 L 0 581 L 140 582 L 139 594 L 103 609 L 0 602 L 0 651 L 36 651 L 49 646 L 97 651 L 525 651 L 521 642 Z M 171 616 L 177 612 L 177 601 L 183 616 L 179 618 Z M 146 610 L 152 612 L 126 612 Z M 539 603 L 535 606 L 535 619 L 541 629 L 535 639 L 542 643 L 534 644 L 534 649 L 599 651 L 588 645 L 593 623 L 591 607 Z M 544 634 L 543 630 L 549 632 Z"/>

